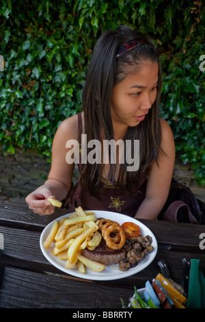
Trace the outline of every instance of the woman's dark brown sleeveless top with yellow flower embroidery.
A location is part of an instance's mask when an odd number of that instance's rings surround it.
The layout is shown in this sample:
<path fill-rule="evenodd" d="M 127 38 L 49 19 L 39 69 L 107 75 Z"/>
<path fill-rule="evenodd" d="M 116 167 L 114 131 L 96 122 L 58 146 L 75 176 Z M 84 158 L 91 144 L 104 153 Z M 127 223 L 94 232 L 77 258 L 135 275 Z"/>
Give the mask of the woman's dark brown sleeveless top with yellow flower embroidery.
<path fill-rule="evenodd" d="M 78 114 L 79 129 L 81 129 L 81 113 Z M 100 200 L 84 190 L 81 186 L 81 162 L 78 164 L 79 179 L 76 186 L 72 187 L 64 207 L 74 211 L 74 208 L 81 206 L 83 210 L 106 210 L 119 212 L 128 216 L 135 216 L 137 209 L 143 201 L 146 193 L 146 182 L 141 187 L 141 193 L 133 185 L 133 193 L 126 189 L 126 183 L 117 184 L 108 182 L 101 177 Z M 106 184 L 106 187 L 105 187 Z"/>

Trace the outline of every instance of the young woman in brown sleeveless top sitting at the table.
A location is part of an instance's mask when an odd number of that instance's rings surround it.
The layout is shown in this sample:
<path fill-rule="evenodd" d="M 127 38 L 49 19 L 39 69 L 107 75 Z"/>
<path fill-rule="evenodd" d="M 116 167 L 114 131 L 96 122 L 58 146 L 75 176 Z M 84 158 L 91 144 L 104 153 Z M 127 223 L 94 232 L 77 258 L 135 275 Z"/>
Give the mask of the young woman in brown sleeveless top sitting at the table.
<path fill-rule="evenodd" d="M 57 129 L 49 177 L 27 196 L 29 208 L 40 215 L 51 214 L 55 208 L 46 199 L 53 196 L 64 200 L 71 211 L 81 206 L 156 219 L 167 200 L 175 160 L 172 130 L 160 118 L 161 82 L 159 54 L 150 37 L 125 26 L 102 34 L 87 71 L 83 112 Z M 81 143 L 81 134 L 86 134 L 87 143 L 98 140 L 101 162 L 83 161 L 90 160 L 85 157 L 94 146 L 79 145 L 80 177 L 72 187 L 69 143 Z M 110 140 L 124 143 L 121 151 L 129 158 L 121 159 L 116 145 L 116 162 L 111 162 L 111 151 L 109 163 L 103 162 L 103 143 Z M 134 149 L 137 142 L 139 153 Z M 139 166 L 128 170 L 129 160 L 136 158 Z"/>

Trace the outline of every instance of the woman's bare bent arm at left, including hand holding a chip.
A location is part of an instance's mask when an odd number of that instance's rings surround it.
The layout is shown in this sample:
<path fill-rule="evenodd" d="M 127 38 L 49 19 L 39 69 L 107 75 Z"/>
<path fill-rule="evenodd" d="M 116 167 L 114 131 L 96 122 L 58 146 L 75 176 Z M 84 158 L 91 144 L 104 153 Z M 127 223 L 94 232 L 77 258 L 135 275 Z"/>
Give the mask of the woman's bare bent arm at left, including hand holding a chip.
<path fill-rule="evenodd" d="M 78 140 L 77 115 L 71 116 L 59 125 L 53 139 L 52 163 L 48 179 L 26 198 L 29 209 L 38 214 L 53 213 L 55 208 L 46 200 L 53 196 L 61 201 L 70 190 L 74 163 L 66 162 L 66 153 L 69 151 L 66 142 L 72 139 Z"/>

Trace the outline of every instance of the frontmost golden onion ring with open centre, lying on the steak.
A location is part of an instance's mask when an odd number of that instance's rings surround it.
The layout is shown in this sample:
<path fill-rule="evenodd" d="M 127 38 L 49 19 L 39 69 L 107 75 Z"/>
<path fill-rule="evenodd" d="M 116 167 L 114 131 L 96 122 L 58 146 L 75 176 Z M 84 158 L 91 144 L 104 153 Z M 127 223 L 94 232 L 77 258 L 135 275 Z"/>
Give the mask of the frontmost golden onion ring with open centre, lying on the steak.
<path fill-rule="evenodd" d="M 109 225 L 109 227 L 107 227 L 106 229 L 103 229 L 103 230 L 104 230 L 104 232 L 103 232 L 104 237 L 103 238 L 105 239 L 106 244 L 109 248 L 118 250 L 124 246 L 126 237 L 125 237 L 124 231 L 122 230 L 120 225 Z M 120 233 L 120 243 L 114 243 L 111 236 L 110 236 L 111 232 L 115 232 L 116 230 Z"/>

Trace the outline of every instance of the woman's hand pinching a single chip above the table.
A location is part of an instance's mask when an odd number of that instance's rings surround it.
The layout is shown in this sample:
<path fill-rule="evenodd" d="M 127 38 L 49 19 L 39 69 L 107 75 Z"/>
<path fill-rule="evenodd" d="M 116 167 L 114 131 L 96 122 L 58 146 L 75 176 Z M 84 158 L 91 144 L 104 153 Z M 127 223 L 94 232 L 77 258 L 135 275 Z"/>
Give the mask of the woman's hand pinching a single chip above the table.
<path fill-rule="evenodd" d="M 51 188 L 46 185 L 40 186 L 38 189 L 27 195 L 25 201 L 29 205 L 29 209 L 33 210 L 35 214 L 40 214 L 41 216 L 47 214 L 53 214 L 55 212 L 55 207 L 51 205 L 48 198 L 54 198 Z"/>

